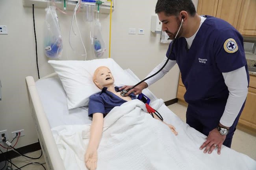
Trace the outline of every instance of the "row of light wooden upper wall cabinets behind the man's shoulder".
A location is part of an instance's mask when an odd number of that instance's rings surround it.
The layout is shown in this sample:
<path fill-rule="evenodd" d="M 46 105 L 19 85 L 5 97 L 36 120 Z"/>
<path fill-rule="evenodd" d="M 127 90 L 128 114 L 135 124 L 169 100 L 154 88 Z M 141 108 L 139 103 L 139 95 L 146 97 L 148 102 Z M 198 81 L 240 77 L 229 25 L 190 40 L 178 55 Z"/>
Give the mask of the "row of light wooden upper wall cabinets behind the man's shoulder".
<path fill-rule="evenodd" d="M 256 36 L 256 0 L 198 0 L 198 15 L 221 18 L 243 36 Z"/>

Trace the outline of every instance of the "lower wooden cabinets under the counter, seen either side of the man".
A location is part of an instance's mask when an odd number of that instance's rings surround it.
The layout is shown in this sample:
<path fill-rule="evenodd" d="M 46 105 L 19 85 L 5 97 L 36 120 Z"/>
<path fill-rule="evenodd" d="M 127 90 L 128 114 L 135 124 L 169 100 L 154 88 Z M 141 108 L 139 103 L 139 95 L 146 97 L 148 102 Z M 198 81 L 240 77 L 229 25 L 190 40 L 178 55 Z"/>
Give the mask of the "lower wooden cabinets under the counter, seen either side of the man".
<path fill-rule="evenodd" d="M 181 77 L 179 79 L 177 98 L 182 104 L 186 104 L 184 100 L 184 94 L 186 88 L 182 83 Z M 250 75 L 250 84 L 248 88 L 247 99 L 245 102 L 245 108 L 241 113 L 238 124 L 240 129 L 250 130 L 250 133 L 256 134 L 256 76 Z"/>

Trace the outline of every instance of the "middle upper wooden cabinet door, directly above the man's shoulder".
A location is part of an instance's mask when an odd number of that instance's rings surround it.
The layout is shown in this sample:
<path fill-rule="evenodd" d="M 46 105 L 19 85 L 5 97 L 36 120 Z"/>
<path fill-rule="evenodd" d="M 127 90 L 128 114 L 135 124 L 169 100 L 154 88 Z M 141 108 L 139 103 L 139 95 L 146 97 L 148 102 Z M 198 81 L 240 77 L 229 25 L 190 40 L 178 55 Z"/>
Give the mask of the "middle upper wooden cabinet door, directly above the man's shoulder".
<path fill-rule="evenodd" d="M 221 18 L 236 28 L 242 0 L 219 0 L 217 18 Z"/>

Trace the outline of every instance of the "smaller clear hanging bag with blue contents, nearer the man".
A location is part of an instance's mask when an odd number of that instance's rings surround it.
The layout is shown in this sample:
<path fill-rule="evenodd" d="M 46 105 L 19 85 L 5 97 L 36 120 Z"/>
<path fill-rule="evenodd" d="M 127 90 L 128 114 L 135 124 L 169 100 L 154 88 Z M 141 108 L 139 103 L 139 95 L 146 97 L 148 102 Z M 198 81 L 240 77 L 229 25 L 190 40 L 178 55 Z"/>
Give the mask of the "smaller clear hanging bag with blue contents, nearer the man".
<path fill-rule="evenodd" d="M 106 44 L 101 35 L 100 22 L 96 22 L 93 31 L 93 48 L 96 57 L 102 57 L 106 52 Z"/>

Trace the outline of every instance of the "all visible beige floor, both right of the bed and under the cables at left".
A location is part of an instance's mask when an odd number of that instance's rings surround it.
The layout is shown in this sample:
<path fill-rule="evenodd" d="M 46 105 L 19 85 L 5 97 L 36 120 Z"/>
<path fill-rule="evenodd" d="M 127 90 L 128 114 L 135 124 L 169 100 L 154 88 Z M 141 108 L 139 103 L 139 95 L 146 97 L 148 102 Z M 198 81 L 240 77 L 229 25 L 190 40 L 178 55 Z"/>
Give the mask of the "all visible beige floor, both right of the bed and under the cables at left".
<path fill-rule="evenodd" d="M 175 103 L 168 106 L 168 108 L 171 109 L 176 115 L 178 115 L 184 122 L 186 122 L 187 107 L 181 104 Z M 250 135 L 248 133 L 245 133 L 237 129 L 233 137 L 231 148 L 236 150 L 237 152 L 246 154 L 252 159 L 256 160 L 256 137 L 253 135 Z M 41 154 L 41 150 L 27 154 L 27 155 L 30 157 L 39 157 L 40 154 Z M 31 160 L 31 161 L 44 163 L 45 159 L 42 156 L 40 159 Z M 29 163 L 23 157 L 12 159 L 12 162 L 18 167 L 21 167 Z M 47 167 L 45 164 L 44 166 L 47 170 Z M 16 169 L 16 168 L 13 168 L 13 169 Z M 28 165 L 22 168 L 22 170 L 44 170 L 44 168 L 41 165 Z"/>

